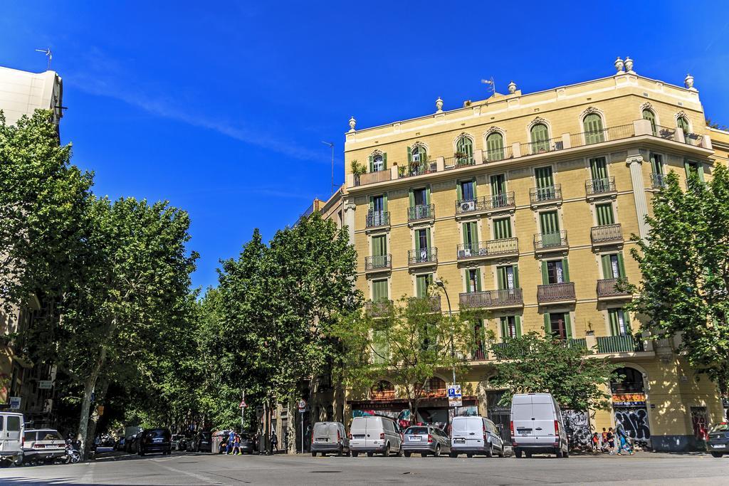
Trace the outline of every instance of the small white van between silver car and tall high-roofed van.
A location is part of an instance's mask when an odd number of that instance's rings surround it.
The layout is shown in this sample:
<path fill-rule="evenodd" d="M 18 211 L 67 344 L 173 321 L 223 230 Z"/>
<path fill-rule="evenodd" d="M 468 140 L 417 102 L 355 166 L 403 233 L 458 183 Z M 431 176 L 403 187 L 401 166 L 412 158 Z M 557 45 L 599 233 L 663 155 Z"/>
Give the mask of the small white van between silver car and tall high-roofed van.
<path fill-rule="evenodd" d="M 499 435 L 499 428 L 488 418 L 475 416 L 453 417 L 451 421 L 451 458 L 465 454 L 472 458 L 483 454 L 504 457 L 504 442 Z"/>

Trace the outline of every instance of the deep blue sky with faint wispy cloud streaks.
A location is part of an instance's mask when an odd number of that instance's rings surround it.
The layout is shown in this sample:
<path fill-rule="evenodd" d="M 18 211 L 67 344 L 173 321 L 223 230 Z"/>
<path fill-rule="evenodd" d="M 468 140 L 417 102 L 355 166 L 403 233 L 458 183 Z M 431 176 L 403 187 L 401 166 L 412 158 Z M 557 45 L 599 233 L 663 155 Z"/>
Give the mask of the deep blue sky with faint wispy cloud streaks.
<path fill-rule="evenodd" d="M 537 7 L 542 6 L 542 7 Z M 68 106 L 61 134 L 95 192 L 167 199 L 192 217 L 195 286 L 217 283 L 343 181 L 359 128 L 486 98 L 608 76 L 617 55 L 647 77 L 695 77 L 729 125 L 726 2 L 3 2 L 0 66 L 43 71 L 50 47 Z"/>

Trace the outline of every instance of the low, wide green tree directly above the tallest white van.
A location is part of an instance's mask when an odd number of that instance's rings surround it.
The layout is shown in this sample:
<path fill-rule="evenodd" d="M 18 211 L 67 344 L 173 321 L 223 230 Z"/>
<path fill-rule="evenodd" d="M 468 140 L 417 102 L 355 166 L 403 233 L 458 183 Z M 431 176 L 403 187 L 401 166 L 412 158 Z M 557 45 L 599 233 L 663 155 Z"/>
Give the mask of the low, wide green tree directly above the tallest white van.
<path fill-rule="evenodd" d="M 506 392 L 500 403 L 511 403 L 515 393 L 552 393 L 563 407 L 574 410 L 605 409 L 610 396 L 606 385 L 619 376 L 619 365 L 590 356 L 588 350 L 529 332 L 491 345 L 496 372 L 488 379 Z"/>

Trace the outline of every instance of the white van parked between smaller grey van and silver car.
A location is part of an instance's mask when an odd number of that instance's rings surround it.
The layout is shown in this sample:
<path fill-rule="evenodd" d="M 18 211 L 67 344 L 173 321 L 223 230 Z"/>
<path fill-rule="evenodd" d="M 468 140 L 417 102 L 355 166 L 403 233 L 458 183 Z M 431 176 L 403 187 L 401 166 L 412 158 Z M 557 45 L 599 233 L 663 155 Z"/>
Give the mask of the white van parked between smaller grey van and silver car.
<path fill-rule="evenodd" d="M 359 452 L 367 452 L 370 458 L 375 452 L 385 457 L 390 452 L 402 455 L 402 436 L 391 418 L 355 417 L 349 427 L 349 450 L 355 458 Z"/>

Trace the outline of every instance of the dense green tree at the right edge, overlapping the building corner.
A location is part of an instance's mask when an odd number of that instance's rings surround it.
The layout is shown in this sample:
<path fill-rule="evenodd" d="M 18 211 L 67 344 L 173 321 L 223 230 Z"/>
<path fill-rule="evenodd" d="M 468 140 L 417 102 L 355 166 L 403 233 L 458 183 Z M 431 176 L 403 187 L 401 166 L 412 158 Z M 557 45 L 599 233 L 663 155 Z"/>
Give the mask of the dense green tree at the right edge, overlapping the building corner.
<path fill-rule="evenodd" d="M 647 316 L 654 339 L 680 337 L 679 351 L 727 391 L 729 380 L 729 171 L 717 165 L 704 184 L 688 189 L 676 173 L 653 197 L 646 240 L 631 254 L 642 281 L 628 308 Z"/>

